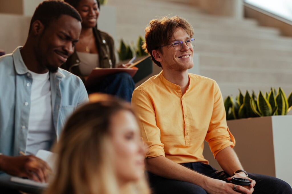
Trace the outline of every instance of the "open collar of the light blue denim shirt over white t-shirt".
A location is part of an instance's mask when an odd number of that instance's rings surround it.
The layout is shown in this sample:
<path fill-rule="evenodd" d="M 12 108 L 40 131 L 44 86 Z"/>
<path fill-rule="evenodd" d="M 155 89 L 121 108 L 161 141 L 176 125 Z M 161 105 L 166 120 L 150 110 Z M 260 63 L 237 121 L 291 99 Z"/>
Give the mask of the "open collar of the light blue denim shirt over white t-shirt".
<path fill-rule="evenodd" d="M 17 47 L 13 53 L 13 61 L 14 61 L 14 67 L 16 70 L 17 74 L 26 74 L 28 73 L 28 69 L 25 66 L 25 63 L 23 62 L 20 49 L 22 49 L 22 46 Z M 57 72 L 55 73 L 50 73 L 50 74 L 55 74 L 55 76 L 60 77 L 60 78 L 65 78 L 66 76 L 60 71 L 60 67 L 58 68 Z"/>

